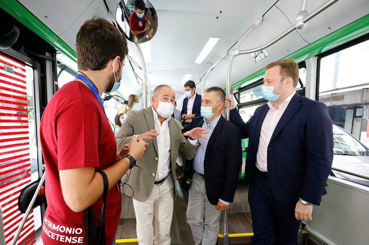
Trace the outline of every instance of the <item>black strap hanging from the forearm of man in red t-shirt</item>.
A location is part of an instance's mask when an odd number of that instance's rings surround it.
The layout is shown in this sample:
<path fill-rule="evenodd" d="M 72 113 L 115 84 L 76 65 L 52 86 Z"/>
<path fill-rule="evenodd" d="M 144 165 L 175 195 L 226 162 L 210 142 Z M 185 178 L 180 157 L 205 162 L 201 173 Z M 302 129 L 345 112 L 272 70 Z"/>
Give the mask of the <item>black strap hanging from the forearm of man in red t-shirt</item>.
<path fill-rule="evenodd" d="M 84 229 L 86 236 L 86 245 L 105 245 L 105 203 L 108 196 L 109 180 L 103 171 L 98 171 L 101 174 L 103 182 L 102 206 L 98 229 L 94 219 L 92 206 L 84 210 Z"/>

